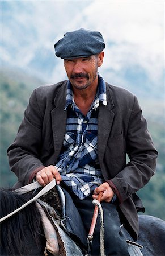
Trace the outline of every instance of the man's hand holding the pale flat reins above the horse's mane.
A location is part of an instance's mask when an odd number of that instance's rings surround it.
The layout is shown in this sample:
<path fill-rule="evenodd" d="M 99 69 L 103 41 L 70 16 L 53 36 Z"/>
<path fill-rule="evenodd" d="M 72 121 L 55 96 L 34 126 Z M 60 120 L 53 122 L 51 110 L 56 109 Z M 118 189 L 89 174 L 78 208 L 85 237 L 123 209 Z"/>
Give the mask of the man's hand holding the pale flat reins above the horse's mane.
<path fill-rule="evenodd" d="M 62 180 L 61 175 L 54 166 L 47 166 L 42 170 L 40 170 L 39 172 L 37 172 L 37 175 L 36 175 L 36 180 L 42 186 L 45 186 L 46 184 L 48 184 L 50 181 L 53 180 L 53 178 L 56 179 L 57 184 L 60 184 L 60 181 Z"/>

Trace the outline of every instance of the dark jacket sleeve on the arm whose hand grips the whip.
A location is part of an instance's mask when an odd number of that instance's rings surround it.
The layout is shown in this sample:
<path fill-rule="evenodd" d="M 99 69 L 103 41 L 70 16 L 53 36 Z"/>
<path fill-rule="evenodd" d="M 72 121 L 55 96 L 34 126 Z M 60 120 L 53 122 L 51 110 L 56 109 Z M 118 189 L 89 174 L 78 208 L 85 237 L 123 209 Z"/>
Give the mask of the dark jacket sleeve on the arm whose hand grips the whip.
<path fill-rule="evenodd" d="M 125 137 L 129 162 L 109 180 L 113 191 L 117 189 L 116 194 L 120 203 L 141 189 L 155 174 L 158 155 L 135 96 Z"/>

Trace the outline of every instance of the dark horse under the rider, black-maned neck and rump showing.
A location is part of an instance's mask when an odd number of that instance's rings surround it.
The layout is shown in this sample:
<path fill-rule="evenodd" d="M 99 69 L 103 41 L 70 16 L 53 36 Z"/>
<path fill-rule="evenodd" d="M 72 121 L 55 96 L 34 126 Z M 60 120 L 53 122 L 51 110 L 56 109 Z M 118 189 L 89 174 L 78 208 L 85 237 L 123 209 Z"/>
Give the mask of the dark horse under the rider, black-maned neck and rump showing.
<path fill-rule="evenodd" d="M 1 218 L 12 212 L 20 205 L 32 198 L 32 193 L 18 194 L 13 189 L 1 189 L 0 206 Z M 142 245 L 143 256 L 165 256 L 165 221 L 153 216 L 138 215 L 139 237 L 137 244 Z M 131 240 L 129 234 L 126 238 Z M 69 253 L 58 254 L 69 256 L 83 256 L 84 253 L 67 235 L 63 236 Z M 33 202 L 19 213 L 5 220 L 1 224 L 1 256 L 7 255 L 52 255 L 45 254 L 46 238 L 40 218 L 39 209 Z M 136 254 L 134 254 L 136 255 Z"/>

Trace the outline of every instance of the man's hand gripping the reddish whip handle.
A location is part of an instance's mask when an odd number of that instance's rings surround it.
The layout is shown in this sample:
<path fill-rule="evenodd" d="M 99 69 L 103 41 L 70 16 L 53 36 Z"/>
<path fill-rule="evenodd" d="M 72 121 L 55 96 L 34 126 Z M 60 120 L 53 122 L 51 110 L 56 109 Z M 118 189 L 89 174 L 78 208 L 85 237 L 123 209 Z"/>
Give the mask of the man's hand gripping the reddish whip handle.
<path fill-rule="evenodd" d="M 94 195 L 92 195 L 93 199 L 98 199 L 99 193 L 103 191 L 103 196 L 101 197 L 101 201 L 111 202 L 114 192 L 108 182 L 101 184 L 99 187 L 95 188 Z"/>

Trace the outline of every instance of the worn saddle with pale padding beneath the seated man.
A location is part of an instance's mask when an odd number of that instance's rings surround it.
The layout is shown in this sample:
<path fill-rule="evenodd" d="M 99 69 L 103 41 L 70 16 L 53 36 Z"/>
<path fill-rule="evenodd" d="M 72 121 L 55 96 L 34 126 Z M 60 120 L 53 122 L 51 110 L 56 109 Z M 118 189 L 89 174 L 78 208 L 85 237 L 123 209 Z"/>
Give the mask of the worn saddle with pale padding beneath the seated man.
<path fill-rule="evenodd" d="M 43 221 L 46 237 L 45 255 L 83 256 L 87 255 L 87 235 L 71 196 L 64 188 L 56 186 L 37 200 L 37 207 Z M 125 228 L 122 228 L 128 238 L 128 251 L 132 256 L 142 256 L 143 246 L 131 241 Z M 80 249 L 81 248 L 81 249 Z"/>

